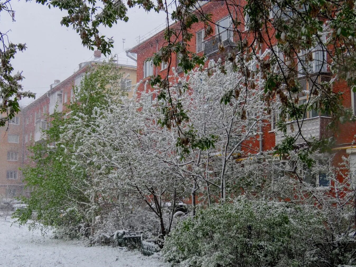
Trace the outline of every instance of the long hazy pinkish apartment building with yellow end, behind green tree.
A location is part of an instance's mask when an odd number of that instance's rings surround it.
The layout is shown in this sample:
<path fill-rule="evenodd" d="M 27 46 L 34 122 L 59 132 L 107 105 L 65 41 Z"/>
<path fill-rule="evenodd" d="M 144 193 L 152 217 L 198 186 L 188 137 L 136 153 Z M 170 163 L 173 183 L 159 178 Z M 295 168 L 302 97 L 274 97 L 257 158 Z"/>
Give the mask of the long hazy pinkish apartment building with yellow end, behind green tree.
<path fill-rule="evenodd" d="M 31 188 L 24 190 L 22 171 L 23 167 L 33 164 L 28 147 L 35 142 L 46 139 L 45 130 L 48 127 L 48 115 L 55 111 L 66 110 L 66 104 L 74 99 L 74 87 L 79 87 L 85 73 L 90 67 L 108 62 L 109 58 L 101 57 L 99 51 L 94 52 L 94 59 L 80 63 L 78 69 L 67 79 L 54 80 L 49 90 L 21 109 L 6 127 L 0 127 L 0 198 L 14 198 L 20 195 L 28 196 Z M 121 88 L 130 98 L 133 96 L 136 84 L 136 62 L 117 58 L 113 61 L 120 67 L 122 73 Z"/>

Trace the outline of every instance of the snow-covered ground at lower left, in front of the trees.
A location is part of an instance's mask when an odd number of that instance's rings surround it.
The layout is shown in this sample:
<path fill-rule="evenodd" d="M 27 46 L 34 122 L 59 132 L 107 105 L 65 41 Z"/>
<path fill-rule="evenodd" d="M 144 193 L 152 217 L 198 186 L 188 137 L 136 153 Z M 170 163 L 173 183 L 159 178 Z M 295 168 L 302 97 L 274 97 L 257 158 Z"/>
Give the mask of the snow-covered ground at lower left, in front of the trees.
<path fill-rule="evenodd" d="M 12 225 L 0 218 L 0 266 L 166 266 L 135 251 L 122 251 L 109 246 L 87 247 L 78 240 L 52 239 L 40 231 Z"/>

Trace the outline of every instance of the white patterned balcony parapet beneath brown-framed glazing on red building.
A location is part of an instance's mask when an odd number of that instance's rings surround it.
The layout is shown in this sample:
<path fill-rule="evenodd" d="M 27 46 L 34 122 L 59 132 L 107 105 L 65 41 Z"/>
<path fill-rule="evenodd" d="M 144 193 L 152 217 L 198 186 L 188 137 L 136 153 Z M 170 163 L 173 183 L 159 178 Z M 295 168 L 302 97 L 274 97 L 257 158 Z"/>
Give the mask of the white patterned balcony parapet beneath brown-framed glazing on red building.
<path fill-rule="evenodd" d="M 329 117 L 314 117 L 310 119 L 304 119 L 303 121 L 299 121 L 299 126 L 301 126 L 300 131 L 307 141 L 312 141 L 313 138 L 316 140 L 320 140 L 323 137 L 328 137 L 329 132 L 326 130 L 326 126 L 330 121 Z M 295 137 L 298 134 L 298 124 L 297 121 L 292 121 L 287 123 L 287 136 Z M 294 132 L 290 130 L 290 124 L 294 126 Z M 276 130 L 276 145 L 282 143 L 286 136 L 283 132 Z M 297 140 L 295 141 L 296 144 L 305 143 L 302 136 L 298 136 Z"/>

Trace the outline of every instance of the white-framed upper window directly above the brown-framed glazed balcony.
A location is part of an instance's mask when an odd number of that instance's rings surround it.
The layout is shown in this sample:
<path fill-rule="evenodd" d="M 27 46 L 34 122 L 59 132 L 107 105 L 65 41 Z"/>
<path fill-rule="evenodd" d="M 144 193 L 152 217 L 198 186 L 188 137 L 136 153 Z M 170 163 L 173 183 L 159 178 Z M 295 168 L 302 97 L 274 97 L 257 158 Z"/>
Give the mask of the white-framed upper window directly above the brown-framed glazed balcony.
<path fill-rule="evenodd" d="M 321 41 L 325 43 L 325 34 L 321 35 Z M 309 61 L 309 55 L 312 60 Z M 298 59 L 298 77 L 307 73 L 326 72 L 326 50 L 323 44 L 318 43 L 310 51 L 301 51 Z"/>

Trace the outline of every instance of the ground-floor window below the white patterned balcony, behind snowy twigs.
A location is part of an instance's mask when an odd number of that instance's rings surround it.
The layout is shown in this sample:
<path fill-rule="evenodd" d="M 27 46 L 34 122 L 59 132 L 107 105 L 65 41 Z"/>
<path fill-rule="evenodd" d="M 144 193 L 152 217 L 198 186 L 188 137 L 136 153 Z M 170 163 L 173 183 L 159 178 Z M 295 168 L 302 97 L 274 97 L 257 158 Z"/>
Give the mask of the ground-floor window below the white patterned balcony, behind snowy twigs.
<path fill-rule="evenodd" d="M 313 164 L 312 168 L 308 168 L 304 164 L 304 182 L 314 187 L 330 186 L 330 178 L 328 177 L 328 167 L 330 161 L 328 159 L 318 159 Z"/>

